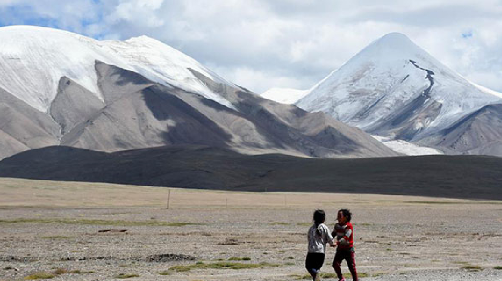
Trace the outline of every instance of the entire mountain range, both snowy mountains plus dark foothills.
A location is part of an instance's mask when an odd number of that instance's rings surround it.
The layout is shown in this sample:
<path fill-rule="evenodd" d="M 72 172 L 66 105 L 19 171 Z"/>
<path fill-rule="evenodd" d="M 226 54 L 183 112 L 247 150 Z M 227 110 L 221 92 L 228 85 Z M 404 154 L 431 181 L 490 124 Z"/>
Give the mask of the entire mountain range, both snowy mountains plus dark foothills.
<path fill-rule="evenodd" d="M 0 176 L 501 198 L 502 158 L 403 157 L 502 155 L 499 95 L 397 33 L 267 99 L 149 37 L 3 27 Z"/>

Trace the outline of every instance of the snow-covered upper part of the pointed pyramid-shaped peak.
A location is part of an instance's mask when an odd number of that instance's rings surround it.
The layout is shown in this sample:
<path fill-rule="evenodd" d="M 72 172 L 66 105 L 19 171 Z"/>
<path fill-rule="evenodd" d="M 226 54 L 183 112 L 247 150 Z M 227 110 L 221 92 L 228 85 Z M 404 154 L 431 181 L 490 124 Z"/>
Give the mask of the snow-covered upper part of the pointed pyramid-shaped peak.
<path fill-rule="evenodd" d="M 374 41 L 296 104 L 374 135 L 418 141 L 489 104 L 474 86 L 400 33 Z"/>

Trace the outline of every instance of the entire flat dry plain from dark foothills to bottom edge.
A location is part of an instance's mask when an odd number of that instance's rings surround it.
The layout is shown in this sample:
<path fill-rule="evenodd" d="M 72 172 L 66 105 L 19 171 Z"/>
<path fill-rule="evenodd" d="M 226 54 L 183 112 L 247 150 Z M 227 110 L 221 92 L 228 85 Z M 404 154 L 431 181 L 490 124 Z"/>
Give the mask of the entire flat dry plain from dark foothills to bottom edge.
<path fill-rule="evenodd" d="M 0 280 L 308 279 L 312 213 L 343 207 L 361 279 L 502 279 L 501 201 L 3 178 Z"/>

